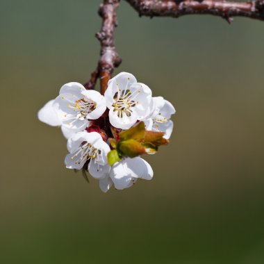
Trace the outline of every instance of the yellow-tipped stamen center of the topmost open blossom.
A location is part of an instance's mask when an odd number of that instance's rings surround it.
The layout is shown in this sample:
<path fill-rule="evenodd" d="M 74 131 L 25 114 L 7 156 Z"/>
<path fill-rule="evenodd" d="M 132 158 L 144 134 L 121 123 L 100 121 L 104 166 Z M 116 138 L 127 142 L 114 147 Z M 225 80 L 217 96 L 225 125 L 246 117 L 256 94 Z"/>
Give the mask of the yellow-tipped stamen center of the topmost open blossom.
<path fill-rule="evenodd" d="M 135 97 L 134 94 L 131 93 L 131 90 L 121 90 L 119 89 L 119 92 L 115 93 L 115 103 L 112 105 L 114 108 L 114 112 L 117 111 L 117 115 L 119 117 L 123 117 L 124 113 L 130 117 L 132 113 L 132 108 L 136 104 L 138 104 L 138 101 L 135 102 L 133 99 Z"/>

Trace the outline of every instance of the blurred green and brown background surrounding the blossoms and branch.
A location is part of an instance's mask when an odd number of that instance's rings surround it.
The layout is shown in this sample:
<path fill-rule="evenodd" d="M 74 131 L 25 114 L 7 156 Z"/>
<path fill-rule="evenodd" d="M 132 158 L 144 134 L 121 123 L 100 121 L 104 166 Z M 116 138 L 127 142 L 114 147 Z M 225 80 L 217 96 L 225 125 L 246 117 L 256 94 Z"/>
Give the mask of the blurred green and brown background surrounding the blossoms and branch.
<path fill-rule="evenodd" d="M 104 194 L 65 169 L 38 110 L 97 65 L 97 0 L 0 0 L 0 263 L 264 263 L 264 23 L 139 18 L 121 1 L 115 71 L 178 110 L 152 181 Z"/>

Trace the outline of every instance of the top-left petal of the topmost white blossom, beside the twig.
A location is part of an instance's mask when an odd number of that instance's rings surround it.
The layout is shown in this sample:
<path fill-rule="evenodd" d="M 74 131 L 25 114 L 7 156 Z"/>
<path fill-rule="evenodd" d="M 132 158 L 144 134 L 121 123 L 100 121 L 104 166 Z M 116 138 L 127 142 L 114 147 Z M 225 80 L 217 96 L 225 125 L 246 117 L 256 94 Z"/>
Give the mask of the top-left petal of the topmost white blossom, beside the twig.
<path fill-rule="evenodd" d="M 129 74 L 128 72 L 120 72 L 117 76 L 113 77 L 108 81 L 108 88 L 104 93 L 106 97 L 106 106 L 110 109 L 114 103 L 115 94 L 118 90 L 125 90 L 129 88 L 133 83 L 136 83 L 137 80 L 135 76 Z"/>

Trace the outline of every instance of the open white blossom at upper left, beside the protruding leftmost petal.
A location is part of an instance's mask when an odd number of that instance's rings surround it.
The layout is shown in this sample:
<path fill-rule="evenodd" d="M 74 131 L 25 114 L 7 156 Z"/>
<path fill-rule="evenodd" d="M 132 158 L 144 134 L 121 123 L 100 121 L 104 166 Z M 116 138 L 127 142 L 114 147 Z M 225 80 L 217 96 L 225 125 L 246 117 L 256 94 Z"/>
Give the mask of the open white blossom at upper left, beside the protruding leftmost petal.
<path fill-rule="evenodd" d="M 73 131 L 82 131 L 89 125 L 89 119 L 98 119 L 106 110 L 104 96 L 94 90 L 85 90 L 81 83 L 67 83 L 60 88 L 55 99 L 62 126 Z"/>

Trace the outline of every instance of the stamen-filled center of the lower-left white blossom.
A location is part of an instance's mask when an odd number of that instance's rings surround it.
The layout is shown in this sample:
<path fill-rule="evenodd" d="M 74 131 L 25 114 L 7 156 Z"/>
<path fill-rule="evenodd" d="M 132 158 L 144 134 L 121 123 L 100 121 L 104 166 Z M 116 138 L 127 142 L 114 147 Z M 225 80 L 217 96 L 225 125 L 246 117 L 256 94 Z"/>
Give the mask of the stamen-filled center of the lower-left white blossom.
<path fill-rule="evenodd" d="M 91 158 L 96 158 L 96 162 L 98 163 L 100 155 L 101 150 L 92 147 L 90 143 L 84 141 L 71 159 L 74 160 L 75 164 L 81 164 L 84 160 L 86 162 Z"/>

